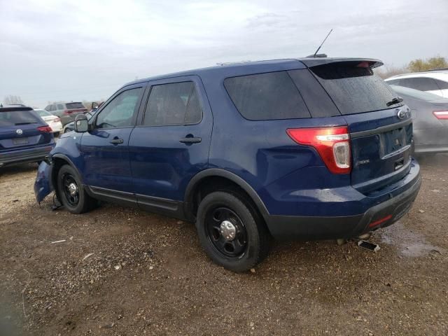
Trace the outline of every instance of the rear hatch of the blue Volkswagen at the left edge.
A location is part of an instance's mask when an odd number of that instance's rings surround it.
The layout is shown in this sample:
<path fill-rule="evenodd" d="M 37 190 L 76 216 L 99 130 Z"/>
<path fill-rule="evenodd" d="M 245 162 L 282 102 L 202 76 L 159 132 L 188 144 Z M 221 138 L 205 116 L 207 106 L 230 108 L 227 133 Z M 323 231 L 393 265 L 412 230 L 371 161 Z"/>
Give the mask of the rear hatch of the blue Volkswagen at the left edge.
<path fill-rule="evenodd" d="M 31 108 L 0 109 L 0 153 L 50 144 L 46 127 Z"/>

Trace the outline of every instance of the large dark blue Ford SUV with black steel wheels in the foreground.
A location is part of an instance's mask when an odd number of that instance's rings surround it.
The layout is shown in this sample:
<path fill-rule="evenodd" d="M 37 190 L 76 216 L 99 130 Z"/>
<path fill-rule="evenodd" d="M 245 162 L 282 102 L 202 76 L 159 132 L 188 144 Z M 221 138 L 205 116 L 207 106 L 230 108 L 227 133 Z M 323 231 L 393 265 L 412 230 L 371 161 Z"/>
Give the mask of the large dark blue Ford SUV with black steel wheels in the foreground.
<path fill-rule="evenodd" d="M 196 223 L 234 271 L 269 237 L 351 238 L 405 215 L 421 184 L 412 118 L 375 59 L 228 64 L 137 80 L 63 134 L 41 165 L 73 214 L 97 200 Z"/>

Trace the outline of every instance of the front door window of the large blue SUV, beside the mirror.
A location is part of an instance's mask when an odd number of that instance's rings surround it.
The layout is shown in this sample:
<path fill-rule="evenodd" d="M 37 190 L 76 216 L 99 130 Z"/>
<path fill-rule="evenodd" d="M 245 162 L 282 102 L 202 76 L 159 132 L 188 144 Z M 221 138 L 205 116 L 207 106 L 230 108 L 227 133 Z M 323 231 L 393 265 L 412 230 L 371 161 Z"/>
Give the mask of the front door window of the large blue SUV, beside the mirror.
<path fill-rule="evenodd" d="M 134 125 L 141 87 L 126 90 L 112 99 L 97 117 L 96 128 L 129 127 Z"/>

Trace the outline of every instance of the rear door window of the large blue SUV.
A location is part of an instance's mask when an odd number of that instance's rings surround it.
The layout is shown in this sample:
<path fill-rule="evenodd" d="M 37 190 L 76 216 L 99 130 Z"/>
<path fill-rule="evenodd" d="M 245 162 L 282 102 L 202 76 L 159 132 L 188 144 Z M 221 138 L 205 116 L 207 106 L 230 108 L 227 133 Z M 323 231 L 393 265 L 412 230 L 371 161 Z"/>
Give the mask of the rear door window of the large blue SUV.
<path fill-rule="evenodd" d="M 146 105 L 144 125 L 186 125 L 200 123 L 202 109 L 195 83 L 153 85 Z"/>

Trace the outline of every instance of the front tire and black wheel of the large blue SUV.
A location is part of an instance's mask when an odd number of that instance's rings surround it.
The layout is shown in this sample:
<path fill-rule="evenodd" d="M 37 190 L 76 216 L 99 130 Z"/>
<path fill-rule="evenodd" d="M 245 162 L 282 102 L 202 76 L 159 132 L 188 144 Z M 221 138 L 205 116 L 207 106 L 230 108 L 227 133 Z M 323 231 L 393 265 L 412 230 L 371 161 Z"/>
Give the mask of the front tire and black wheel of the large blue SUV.
<path fill-rule="evenodd" d="M 70 165 L 63 165 L 57 172 L 57 194 L 71 214 L 83 214 L 97 205 L 97 200 L 87 195 L 78 172 Z"/>

